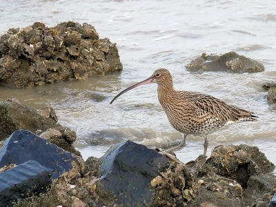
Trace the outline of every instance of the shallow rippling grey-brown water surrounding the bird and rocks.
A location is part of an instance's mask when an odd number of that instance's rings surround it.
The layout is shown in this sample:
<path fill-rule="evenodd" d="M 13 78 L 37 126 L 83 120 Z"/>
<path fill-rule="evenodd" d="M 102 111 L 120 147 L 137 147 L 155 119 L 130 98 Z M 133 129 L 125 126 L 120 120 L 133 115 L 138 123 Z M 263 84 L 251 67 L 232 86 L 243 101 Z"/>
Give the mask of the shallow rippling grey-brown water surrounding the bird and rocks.
<path fill-rule="evenodd" d="M 55 26 L 77 21 L 95 26 L 101 38 L 117 43 L 122 72 L 84 81 L 64 81 L 37 88 L 0 88 L 0 101 L 16 98 L 34 108 L 52 106 L 59 123 L 77 132 L 75 146 L 84 159 L 100 157 L 123 139 L 147 146 L 180 141 L 159 105 L 155 83 L 135 88 L 109 102 L 124 88 L 168 68 L 177 90 L 205 92 L 255 112 L 256 123 L 235 124 L 208 136 L 208 154 L 219 144 L 258 146 L 276 164 L 275 105 L 266 101 L 262 83 L 276 77 L 275 1 L 15 1 L 1 2 L 0 32 L 34 21 Z M 185 66 L 202 52 L 235 51 L 262 62 L 264 72 L 190 73 Z M 50 95 L 47 91 L 54 90 Z M 46 93 L 45 93 L 45 92 Z M 189 136 L 176 152 L 181 161 L 197 158 L 204 139 Z"/>

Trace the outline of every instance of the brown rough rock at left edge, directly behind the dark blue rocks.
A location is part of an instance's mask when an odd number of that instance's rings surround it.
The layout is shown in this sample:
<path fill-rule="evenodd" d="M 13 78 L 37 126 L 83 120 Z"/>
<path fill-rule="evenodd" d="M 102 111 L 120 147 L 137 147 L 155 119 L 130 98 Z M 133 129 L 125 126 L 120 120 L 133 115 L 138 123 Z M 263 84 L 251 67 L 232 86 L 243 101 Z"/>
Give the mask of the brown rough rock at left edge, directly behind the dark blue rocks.
<path fill-rule="evenodd" d="M 75 155 L 81 155 L 72 144 L 77 139 L 76 132 L 57 124 L 55 110 L 44 107 L 40 110 L 24 106 L 16 100 L 0 102 L 0 140 L 5 140 L 14 130 L 25 129 L 36 133 Z"/>

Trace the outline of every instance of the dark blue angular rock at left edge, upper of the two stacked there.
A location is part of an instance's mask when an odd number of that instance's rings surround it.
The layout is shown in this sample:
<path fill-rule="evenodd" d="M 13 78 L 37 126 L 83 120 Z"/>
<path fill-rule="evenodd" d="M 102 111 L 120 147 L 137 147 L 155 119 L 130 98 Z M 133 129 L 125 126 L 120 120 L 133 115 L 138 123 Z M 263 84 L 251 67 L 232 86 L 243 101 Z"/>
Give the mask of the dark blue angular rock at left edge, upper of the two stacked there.
<path fill-rule="evenodd" d="M 74 158 L 69 152 L 32 132 L 16 130 L 3 142 L 0 149 L 0 168 L 10 164 L 23 164 L 29 160 L 37 161 L 50 170 L 52 178 L 55 179 L 72 168 L 71 161 L 74 161 Z"/>

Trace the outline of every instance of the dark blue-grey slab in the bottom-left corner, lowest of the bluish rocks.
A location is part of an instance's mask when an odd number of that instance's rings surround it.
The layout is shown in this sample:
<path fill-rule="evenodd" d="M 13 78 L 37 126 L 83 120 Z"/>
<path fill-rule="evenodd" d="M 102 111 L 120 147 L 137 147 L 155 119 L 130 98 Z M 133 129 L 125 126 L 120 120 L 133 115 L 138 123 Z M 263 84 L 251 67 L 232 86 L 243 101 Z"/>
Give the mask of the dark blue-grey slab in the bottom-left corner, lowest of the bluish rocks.
<path fill-rule="evenodd" d="M 0 206 L 12 206 L 13 201 L 30 195 L 46 193 L 52 184 L 50 171 L 37 161 L 27 161 L 0 173 Z"/>

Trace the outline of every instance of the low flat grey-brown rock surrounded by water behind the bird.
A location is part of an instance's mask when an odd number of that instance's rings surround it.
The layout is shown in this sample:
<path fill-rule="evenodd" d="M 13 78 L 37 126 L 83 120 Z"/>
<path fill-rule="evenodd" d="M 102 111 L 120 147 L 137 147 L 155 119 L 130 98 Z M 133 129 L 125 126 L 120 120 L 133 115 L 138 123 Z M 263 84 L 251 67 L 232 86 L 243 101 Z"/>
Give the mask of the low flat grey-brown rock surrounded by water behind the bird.
<path fill-rule="evenodd" d="M 236 52 L 228 52 L 224 55 L 206 55 L 206 53 L 203 53 L 201 57 L 191 61 L 186 68 L 190 72 L 197 70 L 237 73 L 264 71 L 262 63 L 239 55 Z"/>

